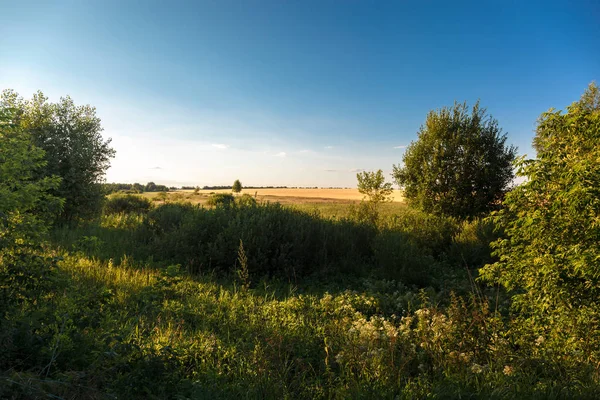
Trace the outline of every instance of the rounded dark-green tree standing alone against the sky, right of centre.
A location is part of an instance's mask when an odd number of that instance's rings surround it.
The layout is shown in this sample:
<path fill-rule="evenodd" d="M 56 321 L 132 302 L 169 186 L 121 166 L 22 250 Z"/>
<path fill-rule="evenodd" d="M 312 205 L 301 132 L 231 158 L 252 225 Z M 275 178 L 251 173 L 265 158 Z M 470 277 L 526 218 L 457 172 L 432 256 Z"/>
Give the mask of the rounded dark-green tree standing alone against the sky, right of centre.
<path fill-rule="evenodd" d="M 431 111 L 394 178 L 408 203 L 426 212 L 469 217 L 493 209 L 514 178 L 516 148 L 498 121 L 475 104 Z"/>

